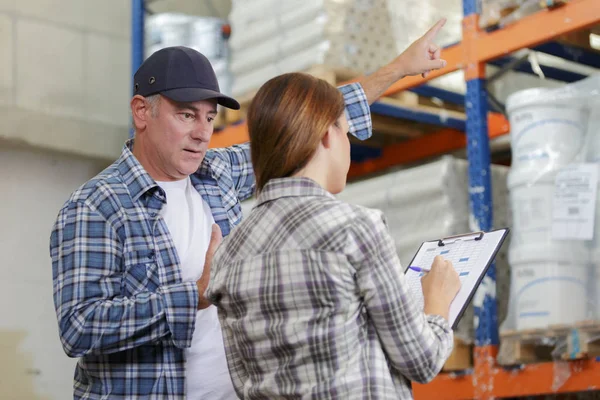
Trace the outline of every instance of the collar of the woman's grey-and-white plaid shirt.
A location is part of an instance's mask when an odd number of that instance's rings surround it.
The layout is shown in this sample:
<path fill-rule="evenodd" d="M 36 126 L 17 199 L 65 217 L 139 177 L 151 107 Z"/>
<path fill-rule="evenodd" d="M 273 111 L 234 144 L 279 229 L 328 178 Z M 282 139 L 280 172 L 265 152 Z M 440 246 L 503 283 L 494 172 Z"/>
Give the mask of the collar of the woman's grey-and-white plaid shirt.
<path fill-rule="evenodd" d="M 335 196 L 323 189 L 317 182 L 310 178 L 277 178 L 271 179 L 257 198 L 256 206 L 282 197 L 318 196 L 335 199 Z"/>

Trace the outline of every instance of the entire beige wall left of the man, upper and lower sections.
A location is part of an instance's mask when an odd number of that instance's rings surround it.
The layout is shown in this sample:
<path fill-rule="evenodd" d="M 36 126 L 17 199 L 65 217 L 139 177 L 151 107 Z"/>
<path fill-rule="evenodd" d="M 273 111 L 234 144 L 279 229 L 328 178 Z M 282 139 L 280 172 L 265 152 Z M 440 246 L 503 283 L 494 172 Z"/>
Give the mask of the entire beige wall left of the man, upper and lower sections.
<path fill-rule="evenodd" d="M 73 397 L 48 244 L 129 129 L 128 0 L 0 0 L 0 399 Z"/>

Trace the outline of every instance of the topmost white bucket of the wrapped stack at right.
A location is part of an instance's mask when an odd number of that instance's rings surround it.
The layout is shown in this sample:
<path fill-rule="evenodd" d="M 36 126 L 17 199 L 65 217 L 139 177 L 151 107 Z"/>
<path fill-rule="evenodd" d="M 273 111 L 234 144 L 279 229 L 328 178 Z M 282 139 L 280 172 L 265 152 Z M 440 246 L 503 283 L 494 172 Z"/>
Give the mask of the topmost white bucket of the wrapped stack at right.
<path fill-rule="evenodd" d="M 588 111 L 578 99 L 555 91 L 527 89 L 509 96 L 512 167 L 549 170 L 573 162 L 582 149 Z"/>

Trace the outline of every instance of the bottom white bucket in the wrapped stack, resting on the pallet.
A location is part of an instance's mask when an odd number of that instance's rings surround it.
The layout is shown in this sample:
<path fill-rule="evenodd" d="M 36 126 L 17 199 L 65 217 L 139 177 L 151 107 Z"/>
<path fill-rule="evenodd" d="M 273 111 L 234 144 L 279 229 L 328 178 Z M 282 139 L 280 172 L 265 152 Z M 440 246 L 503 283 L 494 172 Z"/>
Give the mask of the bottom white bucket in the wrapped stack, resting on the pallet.
<path fill-rule="evenodd" d="M 573 324 L 589 317 L 589 252 L 553 247 L 511 247 L 511 299 L 516 329 Z"/>

